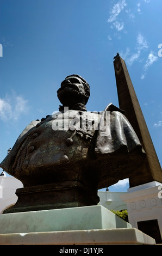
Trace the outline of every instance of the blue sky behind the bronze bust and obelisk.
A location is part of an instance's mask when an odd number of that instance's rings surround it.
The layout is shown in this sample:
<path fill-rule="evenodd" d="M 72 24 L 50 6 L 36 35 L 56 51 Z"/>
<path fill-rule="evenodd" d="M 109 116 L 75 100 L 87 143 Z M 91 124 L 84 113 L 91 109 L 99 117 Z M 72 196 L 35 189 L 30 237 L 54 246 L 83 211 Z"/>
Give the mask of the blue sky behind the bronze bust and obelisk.
<path fill-rule="evenodd" d="M 30 121 L 58 110 L 67 75 L 90 84 L 88 111 L 119 106 L 119 52 L 161 163 L 161 13 L 161 0 L 0 0 L 0 161 Z M 109 190 L 128 187 L 124 180 Z"/>

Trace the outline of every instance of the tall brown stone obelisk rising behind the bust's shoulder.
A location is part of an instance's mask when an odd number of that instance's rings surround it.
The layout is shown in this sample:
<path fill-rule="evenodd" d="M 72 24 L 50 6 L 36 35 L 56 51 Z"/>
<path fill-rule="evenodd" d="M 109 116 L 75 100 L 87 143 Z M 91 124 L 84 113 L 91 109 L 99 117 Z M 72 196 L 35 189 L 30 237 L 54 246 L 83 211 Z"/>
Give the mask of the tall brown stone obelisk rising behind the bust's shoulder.
<path fill-rule="evenodd" d="M 142 167 L 136 169 L 129 178 L 129 186 L 134 187 L 152 181 L 162 182 L 162 170 L 149 134 L 144 115 L 130 79 L 126 63 L 117 54 L 114 60 L 117 94 L 119 106 L 124 110 L 130 124 L 133 126 L 142 147 L 146 152 L 146 161 Z"/>

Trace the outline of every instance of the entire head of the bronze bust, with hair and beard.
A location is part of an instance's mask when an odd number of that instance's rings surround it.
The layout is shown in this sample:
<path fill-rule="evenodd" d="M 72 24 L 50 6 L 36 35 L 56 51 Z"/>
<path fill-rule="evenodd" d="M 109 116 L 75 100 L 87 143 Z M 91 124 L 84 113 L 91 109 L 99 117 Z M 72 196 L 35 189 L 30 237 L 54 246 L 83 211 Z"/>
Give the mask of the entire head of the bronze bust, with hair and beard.
<path fill-rule="evenodd" d="M 86 105 L 90 96 L 90 86 L 79 75 L 70 75 L 61 82 L 61 87 L 57 93 L 63 107 L 72 109 L 78 103 Z"/>

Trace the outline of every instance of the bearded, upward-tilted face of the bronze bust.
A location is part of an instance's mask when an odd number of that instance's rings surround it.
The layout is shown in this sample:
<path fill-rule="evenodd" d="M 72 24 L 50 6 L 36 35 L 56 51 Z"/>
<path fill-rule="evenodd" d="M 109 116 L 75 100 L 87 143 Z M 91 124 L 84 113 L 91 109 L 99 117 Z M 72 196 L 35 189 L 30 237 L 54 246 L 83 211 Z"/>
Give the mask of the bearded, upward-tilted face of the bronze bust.
<path fill-rule="evenodd" d="M 64 106 L 71 107 L 76 103 L 85 103 L 84 82 L 75 76 L 67 77 L 58 89 L 58 98 Z"/>

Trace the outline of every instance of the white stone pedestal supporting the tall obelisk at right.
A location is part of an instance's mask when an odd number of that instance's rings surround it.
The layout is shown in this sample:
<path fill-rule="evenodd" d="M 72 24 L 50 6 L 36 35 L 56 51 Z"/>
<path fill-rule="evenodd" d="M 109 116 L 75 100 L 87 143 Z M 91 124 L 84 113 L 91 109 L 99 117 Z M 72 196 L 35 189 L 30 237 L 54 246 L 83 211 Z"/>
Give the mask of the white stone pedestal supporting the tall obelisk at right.
<path fill-rule="evenodd" d="M 127 203 L 129 223 L 157 243 L 162 243 L 162 184 L 152 181 L 128 188 L 121 199 Z"/>

